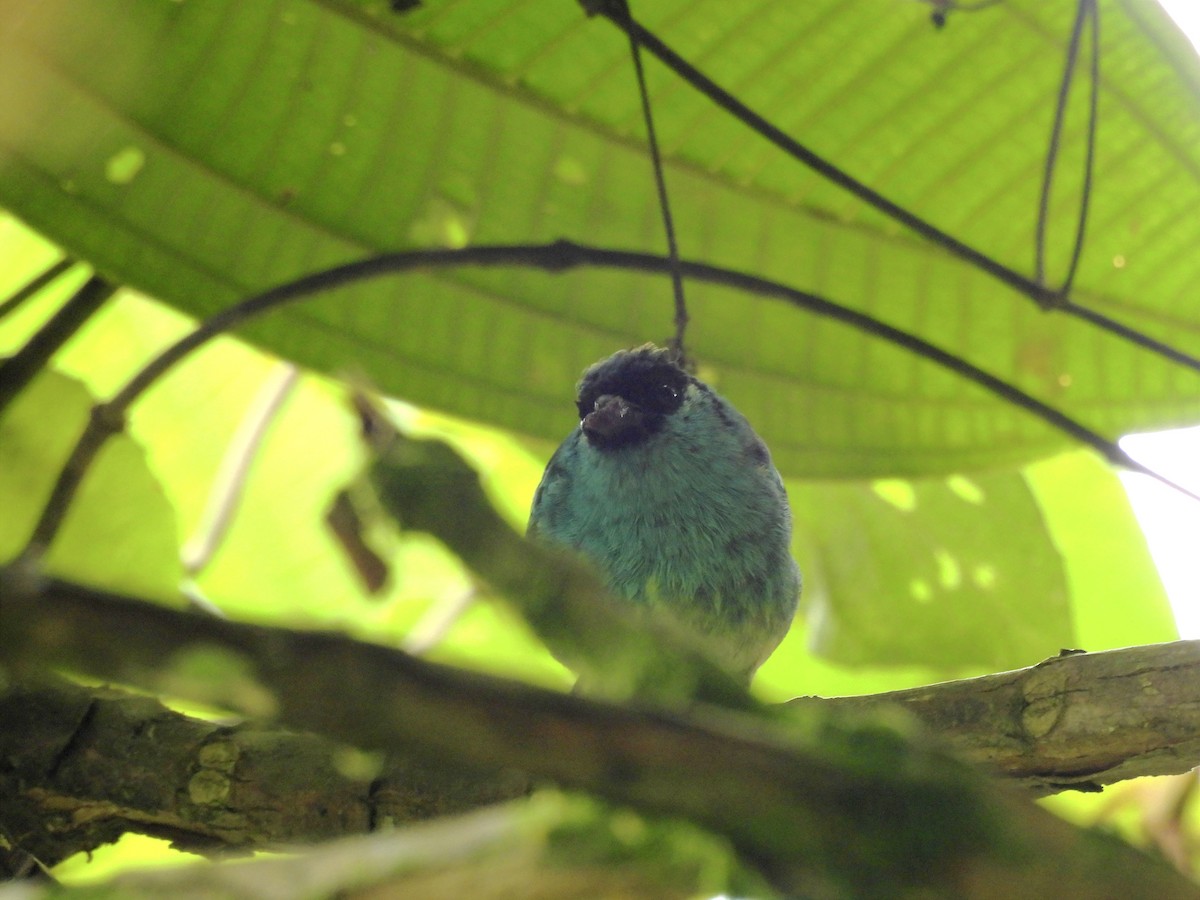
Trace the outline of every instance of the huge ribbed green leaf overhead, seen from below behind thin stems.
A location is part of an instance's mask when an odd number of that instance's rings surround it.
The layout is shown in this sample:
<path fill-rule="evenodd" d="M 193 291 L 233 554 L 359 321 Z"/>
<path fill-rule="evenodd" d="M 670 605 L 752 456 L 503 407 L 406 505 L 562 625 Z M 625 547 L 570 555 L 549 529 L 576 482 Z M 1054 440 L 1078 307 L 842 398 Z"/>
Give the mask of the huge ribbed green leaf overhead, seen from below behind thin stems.
<path fill-rule="evenodd" d="M 1200 352 L 1200 67 L 1150 0 L 1102 2 L 1096 184 L 1076 300 Z M 662 246 L 628 42 L 574 2 L 5 4 L 0 203 L 198 316 L 385 248 L 568 236 Z M 1028 271 L 1074 4 L 643 0 L 634 11 L 788 132 Z M 962 354 L 1110 434 L 1194 421 L 1200 383 L 1032 305 L 818 180 L 658 65 L 685 256 L 780 278 Z M 1080 85 L 1082 86 L 1082 85 Z M 1070 106 L 1050 218 L 1078 200 Z M 1064 439 L 929 362 L 689 288 L 691 346 L 790 475 L 946 474 Z M 436 271 L 251 336 L 419 403 L 557 438 L 578 371 L 671 329 L 661 280 Z"/>

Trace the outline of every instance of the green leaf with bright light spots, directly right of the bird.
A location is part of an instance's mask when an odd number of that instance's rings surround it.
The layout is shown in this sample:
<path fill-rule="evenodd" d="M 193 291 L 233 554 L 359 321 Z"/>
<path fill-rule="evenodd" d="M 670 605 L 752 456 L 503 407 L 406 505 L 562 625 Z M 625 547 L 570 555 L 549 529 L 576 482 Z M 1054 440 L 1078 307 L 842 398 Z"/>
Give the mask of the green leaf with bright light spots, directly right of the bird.
<path fill-rule="evenodd" d="M 1019 473 L 791 493 L 821 655 L 1002 670 L 1073 642 L 1063 562 Z"/>

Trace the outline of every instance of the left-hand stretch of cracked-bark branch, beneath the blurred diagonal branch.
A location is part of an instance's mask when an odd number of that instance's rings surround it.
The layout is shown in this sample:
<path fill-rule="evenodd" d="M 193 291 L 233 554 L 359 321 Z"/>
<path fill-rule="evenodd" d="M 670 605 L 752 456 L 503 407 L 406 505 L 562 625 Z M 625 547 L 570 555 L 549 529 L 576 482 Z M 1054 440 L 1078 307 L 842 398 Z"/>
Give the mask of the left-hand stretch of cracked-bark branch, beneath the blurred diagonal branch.
<path fill-rule="evenodd" d="M 220 724 L 60 678 L 0 694 L 0 833 L 43 865 L 126 832 L 198 853 L 362 834 L 509 799 L 486 779 L 372 758 L 314 734 Z"/>

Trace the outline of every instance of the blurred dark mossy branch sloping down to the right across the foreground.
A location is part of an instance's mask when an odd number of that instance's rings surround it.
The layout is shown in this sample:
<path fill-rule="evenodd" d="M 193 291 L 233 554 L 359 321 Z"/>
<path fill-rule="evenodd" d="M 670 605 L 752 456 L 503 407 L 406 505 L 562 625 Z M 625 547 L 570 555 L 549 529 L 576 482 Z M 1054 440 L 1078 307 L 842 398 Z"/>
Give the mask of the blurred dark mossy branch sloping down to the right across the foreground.
<path fill-rule="evenodd" d="M 785 892 L 1198 896 L 1159 864 L 989 786 L 916 734 L 824 707 L 797 707 L 782 720 L 634 709 L 338 635 L 239 624 L 55 581 L 10 577 L 0 605 L 7 665 L 70 666 L 223 700 L 364 749 L 480 773 L 523 769 L 724 834 Z M 192 674 L 198 660 L 208 671 L 220 664 L 217 684 Z"/>

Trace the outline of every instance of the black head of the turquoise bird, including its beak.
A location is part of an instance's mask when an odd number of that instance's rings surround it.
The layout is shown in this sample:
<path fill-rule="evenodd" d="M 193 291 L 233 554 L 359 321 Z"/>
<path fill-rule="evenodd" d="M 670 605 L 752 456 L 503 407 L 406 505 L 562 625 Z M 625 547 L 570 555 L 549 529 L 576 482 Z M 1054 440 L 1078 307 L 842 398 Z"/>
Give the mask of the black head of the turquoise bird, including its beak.
<path fill-rule="evenodd" d="M 576 404 L 588 440 L 604 449 L 640 443 L 684 401 L 691 378 L 670 350 L 618 350 L 583 373 Z"/>

